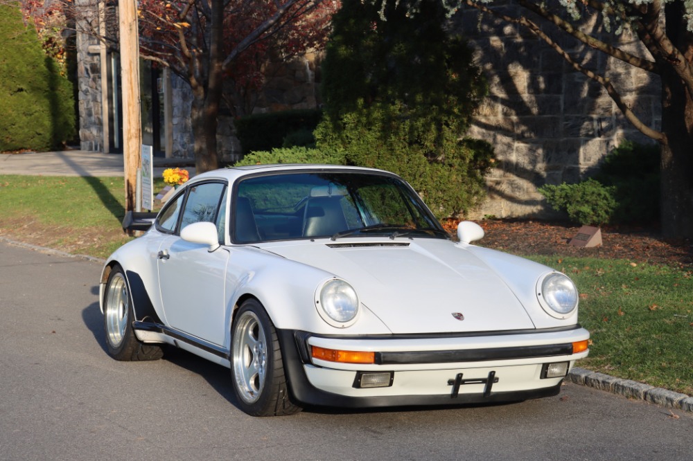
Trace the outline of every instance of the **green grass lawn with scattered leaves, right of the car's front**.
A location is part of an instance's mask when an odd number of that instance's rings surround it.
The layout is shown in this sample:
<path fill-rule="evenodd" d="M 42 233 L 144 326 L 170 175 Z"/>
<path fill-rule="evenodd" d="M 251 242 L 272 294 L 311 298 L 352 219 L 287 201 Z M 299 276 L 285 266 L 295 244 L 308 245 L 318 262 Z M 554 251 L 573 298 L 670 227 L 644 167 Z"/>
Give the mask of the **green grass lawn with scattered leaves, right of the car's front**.
<path fill-rule="evenodd" d="M 595 258 L 532 257 L 580 290 L 592 334 L 580 366 L 693 395 L 693 268 Z"/>

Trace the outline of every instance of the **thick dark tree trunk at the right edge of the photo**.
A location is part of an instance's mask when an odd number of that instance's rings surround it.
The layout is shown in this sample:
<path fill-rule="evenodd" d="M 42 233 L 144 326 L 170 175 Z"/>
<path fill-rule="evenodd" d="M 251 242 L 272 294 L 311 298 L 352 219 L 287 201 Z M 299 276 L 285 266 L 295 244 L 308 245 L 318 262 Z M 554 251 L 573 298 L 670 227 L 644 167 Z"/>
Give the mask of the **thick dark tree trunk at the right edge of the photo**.
<path fill-rule="evenodd" d="M 676 3 L 667 5 L 669 39 L 693 59 L 693 34 Z M 661 223 L 665 237 L 693 238 L 693 98 L 671 66 L 662 71 Z"/>

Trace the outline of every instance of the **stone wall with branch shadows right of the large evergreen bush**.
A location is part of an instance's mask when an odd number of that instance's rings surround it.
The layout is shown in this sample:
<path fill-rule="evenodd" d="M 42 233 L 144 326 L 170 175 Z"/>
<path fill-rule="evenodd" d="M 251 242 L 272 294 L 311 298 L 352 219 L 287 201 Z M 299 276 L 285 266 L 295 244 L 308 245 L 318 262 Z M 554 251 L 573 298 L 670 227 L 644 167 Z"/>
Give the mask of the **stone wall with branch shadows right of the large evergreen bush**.
<path fill-rule="evenodd" d="M 550 211 L 536 191 L 539 186 L 585 179 L 624 139 L 651 142 L 624 119 L 601 85 L 572 69 L 531 33 L 487 16 L 480 21 L 476 10 L 464 10 L 458 19 L 490 90 L 469 135 L 491 142 L 499 160 L 487 181 L 489 198 L 473 219 L 547 217 Z M 591 32 L 602 26 L 589 17 L 581 28 Z M 544 24 L 543 30 L 552 28 Z M 584 66 L 606 72 L 644 123 L 660 129 L 657 78 L 570 37 L 553 39 L 577 54 Z M 649 57 L 627 34 L 619 46 Z"/>

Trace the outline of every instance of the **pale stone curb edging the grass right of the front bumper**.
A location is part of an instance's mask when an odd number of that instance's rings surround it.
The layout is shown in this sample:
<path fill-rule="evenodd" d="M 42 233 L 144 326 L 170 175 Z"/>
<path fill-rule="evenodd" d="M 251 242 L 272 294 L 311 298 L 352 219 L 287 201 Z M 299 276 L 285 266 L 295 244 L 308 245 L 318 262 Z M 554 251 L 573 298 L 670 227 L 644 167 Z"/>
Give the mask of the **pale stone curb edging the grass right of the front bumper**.
<path fill-rule="evenodd" d="M 693 413 L 693 397 L 667 390 L 649 386 L 649 384 L 638 383 L 631 379 L 621 379 L 609 376 L 608 374 L 585 370 L 584 368 L 572 368 L 568 373 L 568 380 L 575 384 L 588 386 L 599 390 L 606 390 L 617 395 L 623 395 L 631 399 L 641 399 L 649 401 L 666 408 L 677 408 L 678 410 Z"/>

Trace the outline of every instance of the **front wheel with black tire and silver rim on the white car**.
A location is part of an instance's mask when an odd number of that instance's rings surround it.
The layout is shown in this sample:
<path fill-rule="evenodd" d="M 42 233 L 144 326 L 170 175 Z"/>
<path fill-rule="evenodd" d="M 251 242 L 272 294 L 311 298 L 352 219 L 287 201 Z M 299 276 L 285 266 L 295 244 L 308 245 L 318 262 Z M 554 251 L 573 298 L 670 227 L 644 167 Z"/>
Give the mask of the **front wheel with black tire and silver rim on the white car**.
<path fill-rule="evenodd" d="M 243 302 L 231 326 L 231 384 L 238 406 L 252 416 L 301 411 L 289 395 L 272 320 L 254 299 Z"/>

